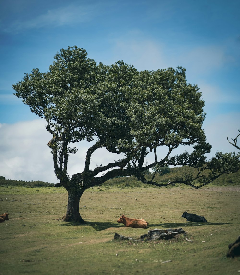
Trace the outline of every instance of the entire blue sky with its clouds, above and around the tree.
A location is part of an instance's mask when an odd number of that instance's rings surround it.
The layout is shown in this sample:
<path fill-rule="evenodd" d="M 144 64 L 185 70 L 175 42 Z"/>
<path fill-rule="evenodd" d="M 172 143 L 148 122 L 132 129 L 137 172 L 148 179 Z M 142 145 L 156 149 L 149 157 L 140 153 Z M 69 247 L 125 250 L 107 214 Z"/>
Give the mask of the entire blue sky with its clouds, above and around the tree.
<path fill-rule="evenodd" d="M 74 45 L 104 64 L 185 67 L 206 103 L 209 157 L 233 152 L 226 137 L 240 129 L 239 10 L 239 0 L 1 1 L 0 174 L 56 182 L 44 121 L 12 95 L 12 84 L 33 68 L 46 72 L 57 51 Z M 81 172 L 87 146 L 71 157 L 70 175 Z M 96 158 L 108 161 L 103 152 Z"/>

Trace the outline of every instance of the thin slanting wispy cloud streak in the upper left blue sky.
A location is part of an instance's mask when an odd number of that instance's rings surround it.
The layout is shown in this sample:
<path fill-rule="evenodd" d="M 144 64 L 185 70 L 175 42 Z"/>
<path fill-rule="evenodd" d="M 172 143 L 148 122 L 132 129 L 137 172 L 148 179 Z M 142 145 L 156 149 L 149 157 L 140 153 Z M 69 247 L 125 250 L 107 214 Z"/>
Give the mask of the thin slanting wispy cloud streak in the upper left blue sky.
<path fill-rule="evenodd" d="M 35 18 L 13 21 L 4 29 L 5 32 L 18 33 L 44 27 L 61 27 L 92 20 L 96 15 L 98 5 L 70 4 L 65 7 L 47 10 Z"/>

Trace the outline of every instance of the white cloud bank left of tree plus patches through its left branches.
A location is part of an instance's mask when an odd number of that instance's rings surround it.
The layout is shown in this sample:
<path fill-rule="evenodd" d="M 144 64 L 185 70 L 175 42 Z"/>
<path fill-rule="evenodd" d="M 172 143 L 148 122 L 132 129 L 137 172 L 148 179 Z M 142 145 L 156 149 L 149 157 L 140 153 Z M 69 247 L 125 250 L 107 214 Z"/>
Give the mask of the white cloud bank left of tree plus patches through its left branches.
<path fill-rule="evenodd" d="M 46 122 L 37 119 L 15 124 L 0 124 L 0 171 L 1 176 L 16 180 L 41 180 L 58 182 L 47 142 L 51 135 L 46 130 Z M 70 154 L 68 174 L 80 173 L 84 170 L 87 149 L 91 144 L 87 141 L 73 144 L 79 148 L 76 154 Z M 106 165 L 118 160 L 118 154 L 105 149 L 98 149 L 93 154 L 90 168 Z"/>

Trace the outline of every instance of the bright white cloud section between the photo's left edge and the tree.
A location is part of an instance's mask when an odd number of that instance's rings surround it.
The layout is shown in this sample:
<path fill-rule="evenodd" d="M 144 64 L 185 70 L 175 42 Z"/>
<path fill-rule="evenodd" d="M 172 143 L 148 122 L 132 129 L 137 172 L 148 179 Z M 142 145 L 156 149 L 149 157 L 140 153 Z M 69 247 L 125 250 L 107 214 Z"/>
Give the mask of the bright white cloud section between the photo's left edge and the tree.
<path fill-rule="evenodd" d="M 57 182 L 44 120 L 1 124 L 1 175 L 16 180 Z"/>

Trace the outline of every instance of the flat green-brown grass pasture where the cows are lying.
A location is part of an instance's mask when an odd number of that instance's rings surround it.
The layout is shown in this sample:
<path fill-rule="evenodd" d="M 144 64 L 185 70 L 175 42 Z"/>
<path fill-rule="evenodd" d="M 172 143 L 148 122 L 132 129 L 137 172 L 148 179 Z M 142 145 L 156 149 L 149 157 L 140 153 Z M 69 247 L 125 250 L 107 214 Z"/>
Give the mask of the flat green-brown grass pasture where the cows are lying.
<path fill-rule="evenodd" d="M 17 274 L 239 274 L 240 257 L 226 257 L 240 234 L 240 187 L 91 188 L 80 201 L 86 225 L 55 219 L 66 212 L 63 188 L 0 188 L 1 275 Z M 197 224 L 183 211 L 205 216 Z M 121 214 L 144 218 L 148 229 L 118 224 Z M 186 236 L 150 243 L 138 238 L 154 228 L 182 227 Z M 185 237 L 192 240 L 186 241 Z M 170 262 L 166 262 L 170 261 Z M 166 263 L 164 263 L 166 262 Z"/>

